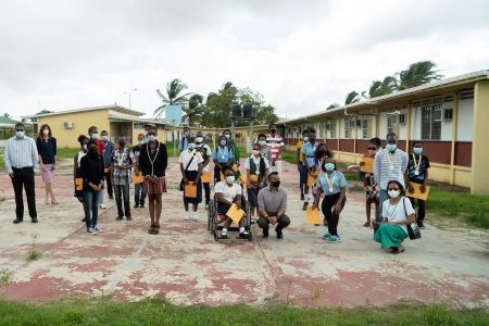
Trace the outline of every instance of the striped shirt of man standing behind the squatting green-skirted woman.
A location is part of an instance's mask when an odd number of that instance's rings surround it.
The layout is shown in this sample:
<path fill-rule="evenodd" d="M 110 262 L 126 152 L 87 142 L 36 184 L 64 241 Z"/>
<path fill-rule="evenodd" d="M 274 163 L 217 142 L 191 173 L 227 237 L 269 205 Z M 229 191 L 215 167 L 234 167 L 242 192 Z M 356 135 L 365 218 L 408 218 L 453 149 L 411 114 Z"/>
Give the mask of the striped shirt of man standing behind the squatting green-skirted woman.
<path fill-rule="evenodd" d="M 388 153 L 387 149 L 381 149 L 375 154 L 374 177 L 375 183 L 381 190 L 387 190 L 387 184 L 390 180 L 397 180 L 404 184 L 404 172 L 408 168 L 408 154 L 397 149 L 393 153 Z"/>

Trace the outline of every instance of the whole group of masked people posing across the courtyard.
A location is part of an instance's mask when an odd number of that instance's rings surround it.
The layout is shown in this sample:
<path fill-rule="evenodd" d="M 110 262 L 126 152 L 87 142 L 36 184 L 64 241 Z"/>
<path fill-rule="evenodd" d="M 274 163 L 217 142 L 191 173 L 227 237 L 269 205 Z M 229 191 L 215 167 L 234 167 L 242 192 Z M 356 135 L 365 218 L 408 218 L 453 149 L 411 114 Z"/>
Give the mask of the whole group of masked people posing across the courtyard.
<path fill-rule="evenodd" d="M 27 195 L 29 215 L 33 223 L 38 222 L 34 171 L 40 168 L 41 178 L 46 184 L 46 203 L 58 204 L 53 193 L 52 183 L 57 164 L 57 140 L 52 137 L 49 125 L 40 127 L 39 137 L 35 141 L 25 135 L 25 126 L 15 126 L 15 136 L 9 139 L 5 148 L 5 166 L 12 179 L 15 191 L 16 218 L 14 223 L 23 222 L 23 188 Z M 315 130 L 302 133 L 302 139 L 297 145 L 297 164 L 300 175 L 300 197 L 305 211 L 310 202 L 312 209 L 321 210 L 323 224 L 327 231 L 323 238 L 328 242 L 340 242 L 338 223 L 347 200 L 348 181 L 337 168 L 334 153 L 326 143 L 316 141 Z M 129 184 L 135 183 L 135 205 L 145 208 L 148 197 L 150 215 L 149 234 L 160 231 L 162 213 L 162 193 L 166 191 L 165 171 L 168 165 L 166 146 L 158 140 L 158 129 L 149 127 L 147 135 L 138 135 L 138 143 L 133 148 L 126 146 L 124 137 L 118 137 L 116 143 L 109 140 L 109 135 L 102 130 L 99 137 L 98 128 L 91 126 L 88 135 L 78 137 L 80 150 L 74 156 L 75 197 L 83 203 L 89 235 L 97 235 L 102 229 L 98 226 L 98 210 L 104 209 L 104 190 L 117 205 L 116 220 L 131 220 L 129 204 Z M 198 206 L 202 202 L 202 189 L 205 198 L 205 209 L 211 202 L 211 180 L 214 180 L 217 213 L 226 215 L 231 204 L 240 208 L 243 202 L 244 189 L 250 204 L 251 218 L 263 229 L 263 236 L 268 236 L 269 224 L 277 225 L 277 238 L 281 239 L 283 229 L 290 223 L 286 214 L 287 192 L 280 187 L 281 158 L 284 140 L 277 133 L 275 124 L 269 125 L 269 134 L 260 134 L 251 148 L 250 156 L 246 158 L 246 175 L 239 172 L 240 152 L 229 129 L 218 137 L 216 147 L 211 150 L 205 143 L 201 131 L 191 135 L 190 129 L 184 129 L 179 141 L 179 168 L 181 180 L 179 189 L 184 191 L 184 208 L 186 221 L 198 220 Z M 424 227 L 425 202 L 418 201 L 417 216 L 414 211 L 414 199 L 405 198 L 405 191 L 413 191 L 413 184 L 418 184 L 421 191 L 426 191 L 429 160 L 423 154 L 423 143 L 414 141 L 412 153 L 408 154 L 398 147 L 398 137 L 389 133 L 386 146 L 381 147 L 379 138 L 373 138 L 364 155 L 374 160 L 374 171 L 362 173 L 365 189 L 366 223 L 365 227 L 374 227 L 374 239 L 383 247 L 388 247 L 393 253 L 404 251 L 402 241 L 408 237 L 406 225 L 416 222 Z M 214 163 L 214 173 L 210 168 Z M 364 164 L 363 162 L 361 163 Z M 134 170 L 134 174 L 133 174 Z M 133 180 L 133 178 L 135 178 Z M 313 178 L 311 184 L 308 179 Z M 405 179 L 409 181 L 404 186 Z M 187 187 L 193 187 L 193 193 L 187 193 Z M 310 196 L 311 195 L 311 196 Z M 322 202 L 321 202 L 322 201 Z M 375 205 L 375 218 L 371 216 L 372 204 Z M 228 218 L 221 233 L 227 238 L 231 224 Z M 239 223 L 239 237 L 251 237 L 246 228 L 244 220 Z"/>

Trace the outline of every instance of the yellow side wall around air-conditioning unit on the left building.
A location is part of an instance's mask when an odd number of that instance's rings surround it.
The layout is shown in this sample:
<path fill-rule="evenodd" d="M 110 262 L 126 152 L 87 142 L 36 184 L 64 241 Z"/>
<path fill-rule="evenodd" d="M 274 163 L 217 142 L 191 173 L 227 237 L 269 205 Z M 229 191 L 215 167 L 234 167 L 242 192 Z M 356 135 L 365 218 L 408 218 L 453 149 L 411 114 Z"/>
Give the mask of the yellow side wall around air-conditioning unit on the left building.
<path fill-rule="evenodd" d="M 65 129 L 65 122 L 72 122 L 74 128 Z M 78 136 L 88 136 L 88 128 L 90 126 L 97 126 L 99 133 L 103 129 L 109 130 L 109 116 L 108 110 L 76 112 L 40 117 L 38 124 L 39 128 L 42 124 L 48 124 L 51 127 L 52 135 L 58 141 L 58 148 L 77 148 L 79 147 L 77 141 Z"/>

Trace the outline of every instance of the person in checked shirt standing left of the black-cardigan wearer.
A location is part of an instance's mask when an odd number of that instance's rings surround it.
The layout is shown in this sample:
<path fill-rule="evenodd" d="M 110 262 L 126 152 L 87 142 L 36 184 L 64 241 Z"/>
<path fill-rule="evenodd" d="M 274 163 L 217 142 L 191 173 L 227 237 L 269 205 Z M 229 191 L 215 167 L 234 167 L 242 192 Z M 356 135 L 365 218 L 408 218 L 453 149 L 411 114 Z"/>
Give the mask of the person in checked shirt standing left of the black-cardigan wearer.
<path fill-rule="evenodd" d="M 131 181 L 133 155 L 126 148 L 124 137 L 118 137 L 118 147 L 112 153 L 111 171 L 112 181 L 114 183 L 115 203 L 117 204 L 116 221 L 122 221 L 126 216 L 127 221 L 131 221 L 129 204 L 129 185 Z M 124 198 L 124 210 L 123 210 Z"/>

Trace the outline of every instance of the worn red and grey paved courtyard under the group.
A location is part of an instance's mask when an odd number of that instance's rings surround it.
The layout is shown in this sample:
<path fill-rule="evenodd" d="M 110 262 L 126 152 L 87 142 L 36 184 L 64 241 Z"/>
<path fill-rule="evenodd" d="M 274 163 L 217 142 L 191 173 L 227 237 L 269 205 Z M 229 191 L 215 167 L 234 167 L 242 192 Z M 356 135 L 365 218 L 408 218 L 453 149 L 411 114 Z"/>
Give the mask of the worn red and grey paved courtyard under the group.
<path fill-rule="evenodd" d="M 82 205 L 72 197 L 70 162 L 60 168 L 55 191 L 60 205 L 43 204 L 37 177 L 39 224 L 14 220 L 13 190 L 0 175 L 0 268 L 13 272 L 8 298 L 50 300 L 113 294 L 124 300 L 164 296 L 177 304 L 262 304 L 292 300 L 298 305 L 385 305 L 399 300 L 448 300 L 465 305 L 489 303 L 489 251 L 479 230 L 438 229 L 406 240 L 406 252 L 392 255 L 364 228 L 363 195 L 350 193 L 340 220 L 341 243 L 319 236 L 324 227 L 306 225 L 297 196 L 297 171 L 285 164 L 291 225 L 285 239 L 254 237 L 252 242 L 215 242 L 199 222 L 183 221 L 179 171 L 172 159 L 170 191 L 164 196 L 159 236 L 147 234 L 148 211 L 133 209 L 133 222 L 116 222 L 114 202 L 100 217 L 105 231 L 86 235 Z M 37 235 L 38 261 L 27 262 Z M 255 235 L 260 230 L 255 228 Z"/>

